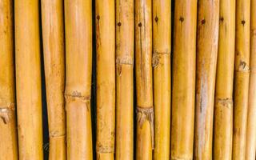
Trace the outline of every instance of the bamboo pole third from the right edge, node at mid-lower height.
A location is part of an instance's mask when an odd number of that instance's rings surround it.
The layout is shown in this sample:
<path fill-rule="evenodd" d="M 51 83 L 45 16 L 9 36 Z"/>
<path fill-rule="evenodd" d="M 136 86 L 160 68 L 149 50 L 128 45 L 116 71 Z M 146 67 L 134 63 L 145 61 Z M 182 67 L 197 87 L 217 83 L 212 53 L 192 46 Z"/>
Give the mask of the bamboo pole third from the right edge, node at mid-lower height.
<path fill-rule="evenodd" d="M 214 102 L 214 159 L 231 159 L 235 1 L 220 0 L 218 65 Z"/>

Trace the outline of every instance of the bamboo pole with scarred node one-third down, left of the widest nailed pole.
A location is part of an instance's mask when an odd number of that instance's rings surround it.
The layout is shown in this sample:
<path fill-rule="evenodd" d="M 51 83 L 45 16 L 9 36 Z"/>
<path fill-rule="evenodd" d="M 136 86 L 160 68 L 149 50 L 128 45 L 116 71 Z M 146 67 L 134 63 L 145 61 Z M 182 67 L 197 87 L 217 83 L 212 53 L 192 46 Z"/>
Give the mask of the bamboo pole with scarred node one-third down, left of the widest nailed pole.
<path fill-rule="evenodd" d="M 154 159 L 170 158 L 170 3 L 153 1 Z"/>

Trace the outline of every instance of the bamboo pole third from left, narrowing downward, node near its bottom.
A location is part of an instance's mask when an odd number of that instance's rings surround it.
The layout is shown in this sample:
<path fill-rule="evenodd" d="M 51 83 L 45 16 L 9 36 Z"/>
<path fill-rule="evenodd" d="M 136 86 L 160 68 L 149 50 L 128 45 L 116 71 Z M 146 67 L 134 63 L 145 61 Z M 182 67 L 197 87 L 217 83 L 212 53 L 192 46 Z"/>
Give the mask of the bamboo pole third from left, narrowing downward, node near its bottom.
<path fill-rule="evenodd" d="M 42 0 L 42 40 L 46 75 L 50 152 L 49 159 L 66 159 L 64 109 L 64 21 L 61 0 Z"/>

